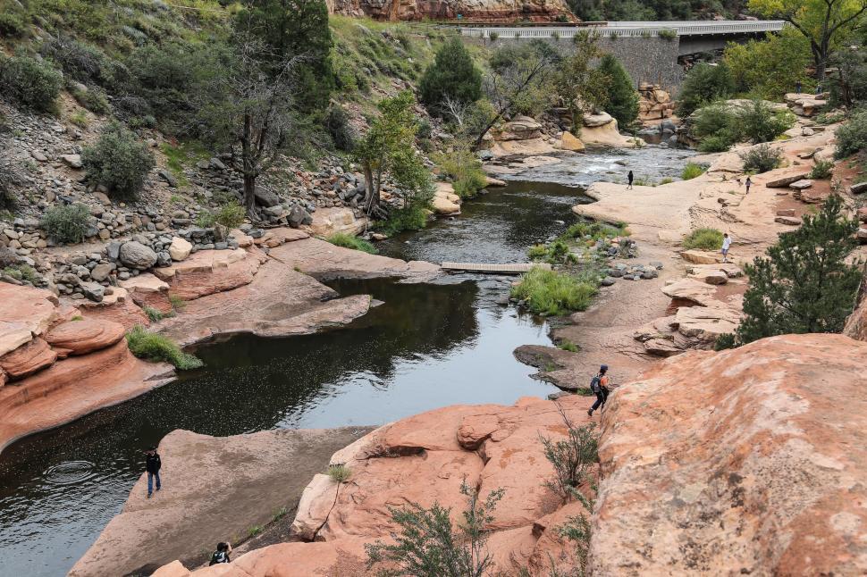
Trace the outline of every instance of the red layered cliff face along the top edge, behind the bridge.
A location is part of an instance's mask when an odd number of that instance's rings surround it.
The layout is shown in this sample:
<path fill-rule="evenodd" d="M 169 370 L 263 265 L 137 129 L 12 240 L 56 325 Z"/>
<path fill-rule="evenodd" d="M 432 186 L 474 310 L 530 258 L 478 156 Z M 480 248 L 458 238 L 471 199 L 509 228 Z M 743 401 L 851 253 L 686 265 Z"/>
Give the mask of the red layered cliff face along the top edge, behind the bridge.
<path fill-rule="evenodd" d="M 453 20 L 508 22 L 553 21 L 575 16 L 563 0 L 328 0 L 330 13 L 370 16 L 377 20 Z"/>

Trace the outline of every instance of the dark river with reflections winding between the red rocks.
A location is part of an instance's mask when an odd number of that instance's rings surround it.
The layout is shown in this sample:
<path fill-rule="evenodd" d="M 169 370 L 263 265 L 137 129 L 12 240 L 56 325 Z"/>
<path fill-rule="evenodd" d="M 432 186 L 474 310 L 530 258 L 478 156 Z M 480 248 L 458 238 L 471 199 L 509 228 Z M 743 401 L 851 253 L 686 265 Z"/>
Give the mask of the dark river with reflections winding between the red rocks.
<path fill-rule="evenodd" d="M 664 153 L 655 151 L 665 151 Z M 648 154 L 644 154 L 648 153 Z M 463 214 L 378 247 L 405 259 L 508 263 L 564 230 L 583 188 L 624 170 L 624 159 L 676 176 L 680 153 L 575 155 L 467 202 Z M 662 162 L 661 158 L 667 159 Z M 548 174 L 553 182 L 542 182 Z M 509 177 L 517 178 L 517 177 Z M 571 185 L 571 186 L 566 186 Z M 336 280 L 341 295 L 382 305 L 347 327 L 288 339 L 250 336 L 199 347 L 206 368 L 120 406 L 34 435 L 0 455 L 2 574 L 62 575 L 118 514 L 143 470 L 144 447 L 174 429 L 235 435 L 278 427 L 389 422 L 456 403 L 511 404 L 554 389 L 529 377 L 512 350 L 550 344 L 541 319 L 496 300 L 507 278 L 435 284 Z"/>

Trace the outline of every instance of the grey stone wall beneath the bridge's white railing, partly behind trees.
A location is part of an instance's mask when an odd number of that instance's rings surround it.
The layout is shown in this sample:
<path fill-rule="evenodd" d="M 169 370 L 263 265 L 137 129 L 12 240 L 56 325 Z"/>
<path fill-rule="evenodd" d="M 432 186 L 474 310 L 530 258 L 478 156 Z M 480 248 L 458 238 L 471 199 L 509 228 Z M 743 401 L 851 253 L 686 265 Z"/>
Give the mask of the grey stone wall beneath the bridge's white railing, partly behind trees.
<path fill-rule="evenodd" d="M 526 42 L 528 38 L 497 38 L 494 41 L 481 38 L 463 38 L 467 43 L 499 47 L 507 43 Z M 563 54 L 573 49 L 571 38 L 540 38 L 556 46 Z M 665 38 L 599 38 L 599 46 L 603 52 L 617 56 L 623 67 L 627 69 L 633 82 L 660 85 L 663 90 L 677 94 L 683 80 L 683 68 L 678 64 L 678 46 L 680 38 L 667 40 Z"/>

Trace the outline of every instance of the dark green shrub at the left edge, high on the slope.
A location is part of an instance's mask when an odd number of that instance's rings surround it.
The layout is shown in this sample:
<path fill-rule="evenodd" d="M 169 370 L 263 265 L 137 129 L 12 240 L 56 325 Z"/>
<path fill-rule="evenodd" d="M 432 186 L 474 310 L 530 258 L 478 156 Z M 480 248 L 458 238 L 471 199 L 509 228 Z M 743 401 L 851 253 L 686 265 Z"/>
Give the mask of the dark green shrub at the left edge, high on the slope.
<path fill-rule="evenodd" d="M 51 63 L 17 55 L 0 63 L 0 89 L 21 105 L 46 112 L 63 88 L 63 74 Z"/>

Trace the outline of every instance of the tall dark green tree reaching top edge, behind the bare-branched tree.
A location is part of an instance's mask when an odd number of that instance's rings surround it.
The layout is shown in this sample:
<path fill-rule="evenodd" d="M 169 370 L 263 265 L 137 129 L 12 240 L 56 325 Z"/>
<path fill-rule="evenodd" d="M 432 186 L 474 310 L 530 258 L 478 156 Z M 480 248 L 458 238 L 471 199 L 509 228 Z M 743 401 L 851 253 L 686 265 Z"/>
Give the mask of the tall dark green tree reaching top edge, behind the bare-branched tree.
<path fill-rule="evenodd" d="M 283 63 L 303 55 L 293 67 L 295 104 L 310 112 L 327 107 L 334 89 L 331 29 L 328 7 L 322 0 L 247 0 L 236 15 L 236 28 L 262 40 L 259 58 L 274 75 Z"/>

